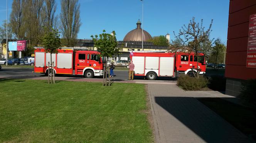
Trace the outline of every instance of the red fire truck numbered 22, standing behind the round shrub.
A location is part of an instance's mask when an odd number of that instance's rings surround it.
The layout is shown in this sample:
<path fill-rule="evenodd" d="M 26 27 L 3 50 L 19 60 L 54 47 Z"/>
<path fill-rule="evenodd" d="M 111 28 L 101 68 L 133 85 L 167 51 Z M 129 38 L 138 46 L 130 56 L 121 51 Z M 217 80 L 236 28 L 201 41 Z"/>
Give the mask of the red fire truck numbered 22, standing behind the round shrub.
<path fill-rule="evenodd" d="M 130 58 L 135 65 L 135 76 L 146 76 L 148 80 L 157 77 L 177 77 L 177 74 L 194 76 L 197 72 L 197 57 L 199 57 L 199 74 L 205 73 L 205 59 L 203 53 L 130 53 Z"/>

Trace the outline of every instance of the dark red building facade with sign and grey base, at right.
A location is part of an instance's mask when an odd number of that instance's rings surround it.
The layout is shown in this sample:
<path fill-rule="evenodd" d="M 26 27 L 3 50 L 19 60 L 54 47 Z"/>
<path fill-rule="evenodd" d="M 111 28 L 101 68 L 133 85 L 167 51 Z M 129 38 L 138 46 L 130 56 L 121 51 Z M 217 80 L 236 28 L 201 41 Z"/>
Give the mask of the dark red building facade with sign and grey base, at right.
<path fill-rule="evenodd" d="M 256 0 L 230 0 L 225 77 L 232 96 L 256 79 Z"/>

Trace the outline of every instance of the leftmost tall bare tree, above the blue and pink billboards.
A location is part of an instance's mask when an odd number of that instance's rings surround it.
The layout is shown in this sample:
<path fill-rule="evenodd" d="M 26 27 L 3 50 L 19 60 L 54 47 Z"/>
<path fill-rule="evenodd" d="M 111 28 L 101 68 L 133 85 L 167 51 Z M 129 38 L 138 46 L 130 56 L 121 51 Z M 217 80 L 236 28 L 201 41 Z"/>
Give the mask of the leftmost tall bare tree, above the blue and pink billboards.
<path fill-rule="evenodd" d="M 25 38 L 24 0 L 13 0 L 10 14 L 10 27 L 18 39 Z"/>

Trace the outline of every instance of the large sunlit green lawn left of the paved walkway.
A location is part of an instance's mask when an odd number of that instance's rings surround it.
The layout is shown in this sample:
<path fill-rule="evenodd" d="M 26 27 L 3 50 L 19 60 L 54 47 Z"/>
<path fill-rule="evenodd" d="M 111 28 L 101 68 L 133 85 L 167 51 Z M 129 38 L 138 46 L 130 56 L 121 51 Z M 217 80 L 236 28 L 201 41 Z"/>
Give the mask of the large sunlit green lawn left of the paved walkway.
<path fill-rule="evenodd" d="M 142 84 L 0 79 L 0 142 L 153 142 Z"/>

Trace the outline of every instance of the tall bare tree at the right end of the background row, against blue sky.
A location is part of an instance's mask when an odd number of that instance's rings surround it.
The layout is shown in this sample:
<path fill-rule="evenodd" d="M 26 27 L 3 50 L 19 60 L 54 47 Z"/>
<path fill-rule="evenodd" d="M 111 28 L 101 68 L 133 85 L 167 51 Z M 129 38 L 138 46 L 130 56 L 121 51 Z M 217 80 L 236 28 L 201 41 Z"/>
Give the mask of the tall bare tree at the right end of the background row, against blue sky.
<path fill-rule="evenodd" d="M 62 0 L 60 17 L 62 37 L 66 40 L 66 46 L 72 47 L 75 44 L 81 26 L 78 0 Z"/>

